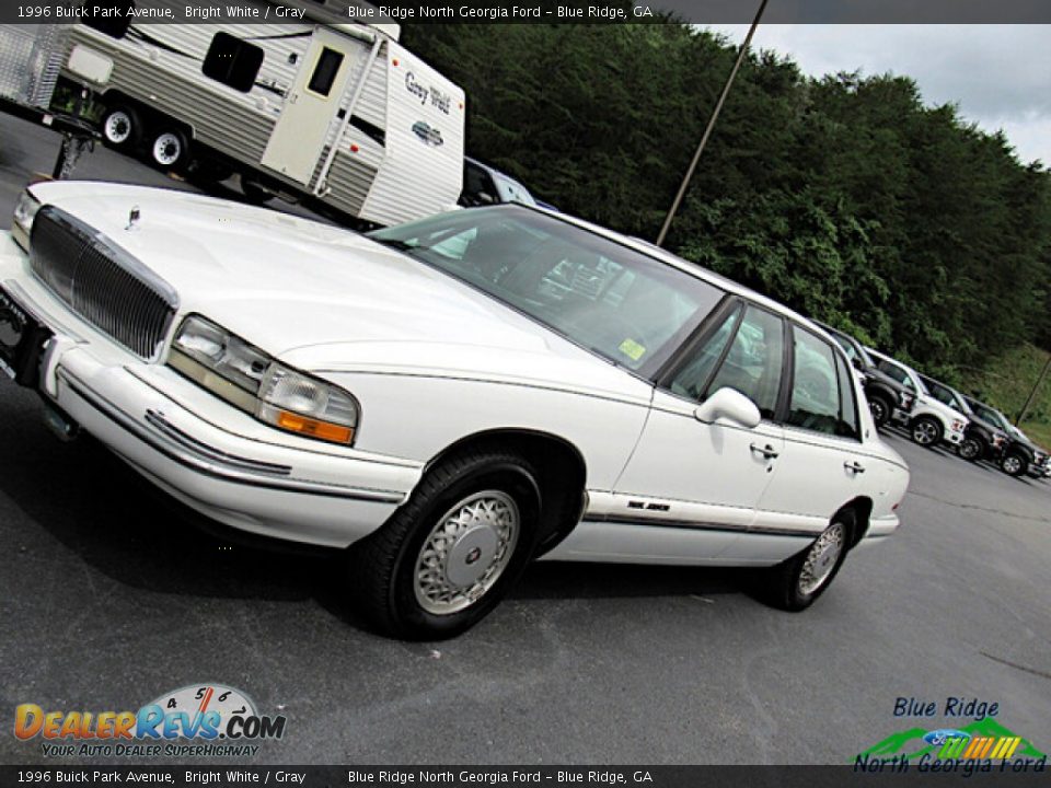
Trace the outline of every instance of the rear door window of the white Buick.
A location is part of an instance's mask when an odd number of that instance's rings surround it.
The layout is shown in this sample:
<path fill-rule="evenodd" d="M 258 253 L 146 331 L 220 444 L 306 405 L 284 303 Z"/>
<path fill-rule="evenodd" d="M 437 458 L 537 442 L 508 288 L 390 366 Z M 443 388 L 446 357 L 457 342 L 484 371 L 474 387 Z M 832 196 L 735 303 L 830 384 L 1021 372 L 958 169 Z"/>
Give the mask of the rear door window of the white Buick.
<path fill-rule="evenodd" d="M 793 427 L 825 434 L 857 437 L 857 414 L 853 391 L 844 402 L 848 379 L 832 346 L 801 328 L 795 328 L 795 376 L 786 422 Z M 845 373 L 845 369 L 843 370 Z"/>

